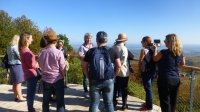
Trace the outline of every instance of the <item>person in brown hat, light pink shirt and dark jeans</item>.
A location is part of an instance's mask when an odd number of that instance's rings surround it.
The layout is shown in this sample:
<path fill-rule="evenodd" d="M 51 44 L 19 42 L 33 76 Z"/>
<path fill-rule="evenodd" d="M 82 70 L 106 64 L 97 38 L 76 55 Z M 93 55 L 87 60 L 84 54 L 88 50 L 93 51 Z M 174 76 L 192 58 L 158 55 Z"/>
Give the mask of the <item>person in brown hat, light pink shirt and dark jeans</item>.
<path fill-rule="evenodd" d="M 54 91 L 56 95 L 57 112 L 64 112 L 65 58 L 63 52 L 56 48 L 58 38 L 53 29 L 49 28 L 45 30 L 43 38 L 46 40 L 47 46 L 38 54 L 38 62 L 43 71 L 42 111 L 49 112 L 49 101 Z"/>

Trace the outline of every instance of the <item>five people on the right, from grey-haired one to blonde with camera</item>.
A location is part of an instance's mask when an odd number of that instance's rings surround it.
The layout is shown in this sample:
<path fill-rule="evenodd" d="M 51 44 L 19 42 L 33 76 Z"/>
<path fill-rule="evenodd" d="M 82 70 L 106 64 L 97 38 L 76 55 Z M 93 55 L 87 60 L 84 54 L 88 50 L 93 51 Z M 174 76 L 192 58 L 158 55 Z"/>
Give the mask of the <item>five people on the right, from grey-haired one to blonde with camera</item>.
<path fill-rule="evenodd" d="M 128 108 L 127 89 L 129 75 L 132 72 L 129 61 L 133 59 L 125 46 L 128 38 L 125 33 L 120 33 L 115 44 L 109 49 L 106 46 L 108 42 L 106 32 L 97 33 L 97 47 L 93 47 L 91 38 L 92 35 L 86 33 L 85 43 L 79 48 L 86 97 L 88 97 L 86 79 L 89 80 L 89 111 L 96 112 L 98 110 L 99 99 L 102 96 L 106 112 L 113 112 L 118 104 L 116 100 L 118 92 L 122 94 L 121 109 L 125 110 Z M 157 78 L 162 112 L 175 112 L 180 85 L 179 66 L 185 65 L 185 57 L 182 52 L 182 43 L 176 34 L 166 35 L 164 43 L 167 49 L 158 52 L 158 46 L 152 43 L 151 37 L 142 38 L 138 65 L 146 92 L 146 100 L 141 111 L 153 111 L 152 80 Z M 110 58 L 107 58 L 107 55 Z M 101 60 L 104 60 L 104 63 Z M 113 69 L 110 69 L 109 62 L 113 64 Z"/>

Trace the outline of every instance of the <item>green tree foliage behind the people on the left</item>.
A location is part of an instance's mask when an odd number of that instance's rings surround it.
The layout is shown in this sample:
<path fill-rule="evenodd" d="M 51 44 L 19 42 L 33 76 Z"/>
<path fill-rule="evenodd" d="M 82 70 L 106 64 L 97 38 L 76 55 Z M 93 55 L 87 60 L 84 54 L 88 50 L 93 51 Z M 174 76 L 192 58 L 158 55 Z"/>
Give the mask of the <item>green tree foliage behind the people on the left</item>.
<path fill-rule="evenodd" d="M 33 43 L 30 48 L 33 52 L 37 53 L 40 49 L 40 40 L 42 37 L 42 31 L 39 30 L 38 26 L 25 15 L 12 18 L 7 12 L 0 10 L 0 54 L 5 54 L 5 50 L 14 35 L 20 35 L 23 32 L 32 34 Z M 59 34 L 58 36 L 65 40 L 65 47 L 71 51 L 72 47 L 66 35 Z"/>

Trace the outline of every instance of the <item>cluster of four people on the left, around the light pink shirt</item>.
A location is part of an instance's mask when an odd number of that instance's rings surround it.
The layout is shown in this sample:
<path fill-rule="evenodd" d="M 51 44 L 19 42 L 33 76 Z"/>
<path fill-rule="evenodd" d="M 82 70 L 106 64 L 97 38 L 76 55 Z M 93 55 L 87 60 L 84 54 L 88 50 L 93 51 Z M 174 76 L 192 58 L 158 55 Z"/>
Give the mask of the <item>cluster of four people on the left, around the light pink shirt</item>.
<path fill-rule="evenodd" d="M 27 100 L 29 112 L 35 112 L 33 107 L 37 82 L 40 76 L 37 69 L 42 70 L 43 103 L 42 111 L 49 112 L 51 95 L 56 96 L 57 111 L 64 112 L 64 88 L 67 87 L 66 71 L 69 68 L 66 62 L 66 50 L 62 48 L 64 41 L 59 40 L 53 29 L 46 29 L 40 42 L 41 50 L 36 58 L 29 49 L 33 41 L 28 32 L 20 36 L 15 35 L 7 48 L 10 65 L 10 78 L 16 102 Z M 66 55 L 65 55 L 66 54 Z M 27 96 L 22 95 L 21 83 L 27 82 Z M 64 83 L 65 82 L 65 83 Z"/>

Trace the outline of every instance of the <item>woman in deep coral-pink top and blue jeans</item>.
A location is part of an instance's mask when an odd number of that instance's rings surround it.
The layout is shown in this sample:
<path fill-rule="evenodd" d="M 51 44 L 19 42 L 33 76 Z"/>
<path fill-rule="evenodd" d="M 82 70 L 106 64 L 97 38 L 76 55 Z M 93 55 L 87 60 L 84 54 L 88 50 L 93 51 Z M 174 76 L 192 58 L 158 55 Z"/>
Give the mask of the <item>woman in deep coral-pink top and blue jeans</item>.
<path fill-rule="evenodd" d="M 24 71 L 24 78 L 27 81 L 27 106 L 28 112 L 35 112 L 33 108 L 34 98 L 36 93 L 36 85 L 38 81 L 36 68 L 38 64 L 35 60 L 35 55 L 29 49 L 33 39 L 30 33 L 22 33 L 19 39 L 19 51 Z"/>

